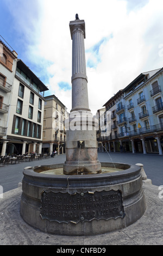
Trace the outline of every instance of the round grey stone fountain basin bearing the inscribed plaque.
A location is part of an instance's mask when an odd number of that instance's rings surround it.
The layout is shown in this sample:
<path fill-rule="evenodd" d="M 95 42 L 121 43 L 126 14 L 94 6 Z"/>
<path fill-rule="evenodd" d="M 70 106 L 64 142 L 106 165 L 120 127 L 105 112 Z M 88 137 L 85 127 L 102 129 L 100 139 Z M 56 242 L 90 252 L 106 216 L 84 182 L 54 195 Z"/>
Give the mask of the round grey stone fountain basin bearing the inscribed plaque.
<path fill-rule="evenodd" d="M 101 163 L 101 174 L 63 175 L 63 164 L 24 170 L 21 216 L 41 231 L 97 235 L 126 228 L 146 210 L 139 166 Z"/>

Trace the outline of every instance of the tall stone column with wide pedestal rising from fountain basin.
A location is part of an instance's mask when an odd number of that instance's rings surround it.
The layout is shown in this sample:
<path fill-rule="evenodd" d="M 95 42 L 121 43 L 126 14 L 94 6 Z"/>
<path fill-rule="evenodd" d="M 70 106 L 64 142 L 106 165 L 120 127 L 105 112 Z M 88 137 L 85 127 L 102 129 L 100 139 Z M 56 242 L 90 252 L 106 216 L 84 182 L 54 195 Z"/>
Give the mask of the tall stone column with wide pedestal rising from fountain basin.
<path fill-rule="evenodd" d="M 66 162 L 64 174 L 101 173 L 96 127 L 98 120 L 89 109 L 85 63 L 85 22 L 70 21 L 72 39 L 72 109 L 65 120 Z"/>

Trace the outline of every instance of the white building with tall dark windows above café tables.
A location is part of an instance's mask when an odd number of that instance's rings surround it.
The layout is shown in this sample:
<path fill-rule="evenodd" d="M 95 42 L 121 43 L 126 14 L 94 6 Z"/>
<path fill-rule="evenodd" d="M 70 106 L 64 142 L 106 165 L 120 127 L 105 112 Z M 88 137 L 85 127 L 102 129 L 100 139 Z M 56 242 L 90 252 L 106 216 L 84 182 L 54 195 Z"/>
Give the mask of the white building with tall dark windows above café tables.
<path fill-rule="evenodd" d="M 3 45 L 3 47 L 7 49 L 6 46 Z M 48 88 L 21 59 L 17 59 L 15 52 L 10 52 L 10 56 L 12 56 L 12 65 L 10 64 L 12 69 L 0 63 L 1 76 L 5 77 L 5 81 L 10 81 L 10 83 L 7 82 L 10 92 L 4 93 L 7 96 L 1 103 L 5 117 L 3 122 L 1 118 L 0 126 L 4 125 L 6 131 L 5 136 L 1 136 L 1 155 L 21 155 L 33 151 L 41 153 L 45 102 L 43 96 Z M 3 78 L 1 78 L 2 82 Z"/>

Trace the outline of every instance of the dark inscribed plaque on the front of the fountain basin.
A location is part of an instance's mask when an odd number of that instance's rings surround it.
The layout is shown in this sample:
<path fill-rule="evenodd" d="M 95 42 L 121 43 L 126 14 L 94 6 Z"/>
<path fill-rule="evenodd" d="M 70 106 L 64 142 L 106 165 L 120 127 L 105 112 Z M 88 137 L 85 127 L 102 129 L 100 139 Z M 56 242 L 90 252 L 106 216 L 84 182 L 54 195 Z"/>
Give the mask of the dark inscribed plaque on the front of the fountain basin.
<path fill-rule="evenodd" d="M 43 191 L 40 216 L 59 223 L 123 218 L 122 193 L 120 190 L 74 194 Z"/>

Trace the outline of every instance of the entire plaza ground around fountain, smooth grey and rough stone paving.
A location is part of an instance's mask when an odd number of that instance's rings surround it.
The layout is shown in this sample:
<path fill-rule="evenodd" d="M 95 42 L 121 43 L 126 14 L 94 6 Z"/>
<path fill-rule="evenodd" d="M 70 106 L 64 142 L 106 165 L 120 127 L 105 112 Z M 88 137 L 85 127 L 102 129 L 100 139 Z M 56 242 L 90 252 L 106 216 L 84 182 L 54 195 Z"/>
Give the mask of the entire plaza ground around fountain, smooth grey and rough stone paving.
<path fill-rule="evenodd" d="M 22 188 L 17 185 L 23 178 L 23 169 L 40 164 L 64 163 L 65 155 L 58 155 L 50 159 L 9 164 L 0 168 L 1 186 L 5 190 L 3 198 L 0 198 L 0 245 L 55 245 L 58 248 L 61 245 L 67 245 L 68 248 L 73 245 L 163 245 L 163 198 L 159 190 L 159 186 L 163 184 L 162 156 L 125 153 L 110 153 L 109 156 L 107 153 L 98 153 L 98 159 L 101 162 L 144 164 L 147 178 L 152 179 L 153 185 L 143 183 L 147 208 L 138 221 L 122 230 L 95 236 L 59 236 L 30 227 L 20 216 Z"/>

